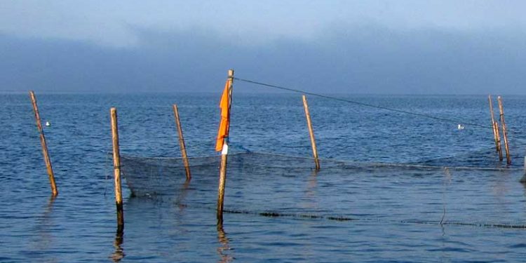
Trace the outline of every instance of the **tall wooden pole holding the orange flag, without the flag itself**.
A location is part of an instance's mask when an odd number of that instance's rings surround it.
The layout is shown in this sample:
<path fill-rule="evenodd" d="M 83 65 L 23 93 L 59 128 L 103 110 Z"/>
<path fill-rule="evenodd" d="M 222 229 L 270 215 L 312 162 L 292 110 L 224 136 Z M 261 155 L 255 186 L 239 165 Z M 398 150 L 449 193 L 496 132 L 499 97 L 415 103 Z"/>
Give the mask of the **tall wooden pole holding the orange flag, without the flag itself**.
<path fill-rule="evenodd" d="M 228 79 L 229 87 L 229 109 L 232 103 L 232 83 L 234 83 L 234 69 L 229 69 Z M 229 110 L 230 114 L 230 110 Z M 230 119 L 230 116 L 229 116 Z M 229 128 L 228 128 L 229 129 Z M 228 132 L 227 132 L 228 134 Z M 217 189 L 217 224 L 223 223 L 223 207 L 224 207 L 224 187 L 227 183 L 227 161 L 228 161 L 228 138 L 223 142 L 223 149 L 221 151 L 221 165 L 220 165 L 220 181 Z"/>

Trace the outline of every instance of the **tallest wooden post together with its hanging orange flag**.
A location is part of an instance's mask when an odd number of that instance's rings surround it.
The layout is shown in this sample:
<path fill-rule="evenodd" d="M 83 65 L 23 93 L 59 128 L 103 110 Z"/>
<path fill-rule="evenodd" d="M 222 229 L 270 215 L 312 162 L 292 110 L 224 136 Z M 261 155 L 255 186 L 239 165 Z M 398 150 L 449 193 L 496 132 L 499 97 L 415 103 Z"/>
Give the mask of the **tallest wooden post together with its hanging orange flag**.
<path fill-rule="evenodd" d="M 224 186 L 227 181 L 227 156 L 229 151 L 228 137 L 230 129 L 230 109 L 232 102 L 232 83 L 234 83 L 234 69 L 229 69 L 227 83 L 224 84 L 221 95 L 221 121 L 217 130 L 215 150 L 221 151 L 220 181 L 217 190 L 217 224 L 223 223 Z"/>

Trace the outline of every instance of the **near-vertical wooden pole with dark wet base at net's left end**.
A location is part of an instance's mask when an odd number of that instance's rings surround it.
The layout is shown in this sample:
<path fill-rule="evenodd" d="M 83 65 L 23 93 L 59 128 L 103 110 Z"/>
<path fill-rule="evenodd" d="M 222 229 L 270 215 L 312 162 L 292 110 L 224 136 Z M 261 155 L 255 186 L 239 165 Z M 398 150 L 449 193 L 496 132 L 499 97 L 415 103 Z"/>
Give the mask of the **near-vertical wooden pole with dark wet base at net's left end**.
<path fill-rule="evenodd" d="M 109 110 L 112 118 L 112 142 L 113 142 L 113 171 L 115 182 L 115 203 L 117 210 L 117 233 L 124 229 L 124 213 L 122 204 L 121 188 L 121 154 L 119 150 L 119 126 L 117 125 L 117 109 Z"/>

